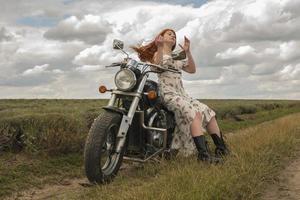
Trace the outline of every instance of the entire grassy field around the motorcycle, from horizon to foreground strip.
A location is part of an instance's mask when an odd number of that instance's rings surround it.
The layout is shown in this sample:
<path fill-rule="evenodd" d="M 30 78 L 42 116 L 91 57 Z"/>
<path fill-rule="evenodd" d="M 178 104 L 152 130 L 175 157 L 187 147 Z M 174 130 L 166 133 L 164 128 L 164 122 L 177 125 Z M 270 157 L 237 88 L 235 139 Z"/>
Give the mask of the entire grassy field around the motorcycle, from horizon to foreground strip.
<path fill-rule="evenodd" d="M 300 112 L 300 101 L 201 101 L 216 111 L 225 135 L 229 132 L 236 135 L 230 138 L 235 153 L 224 166 L 202 166 L 194 158 L 146 164 L 133 176 L 121 173 L 109 186 L 66 194 L 65 198 L 96 198 L 100 194 L 105 194 L 104 199 L 258 197 L 261 186 L 272 180 L 282 160 L 292 155 L 299 145 L 300 117 L 293 113 Z M 64 179 L 84 177 L 84 140 L 106 102 L 0 100 L 0 198 L 29 188 L 59 184 Z M 262 127 L 258 125 L 285 115 L 290 116 Z M 195 173 L 194 169 L 198 168 L 201 170 Z M 211 174 L 216 178 L 212 179 Z M 122 196 L 114 195 L 117 191 Z"/>

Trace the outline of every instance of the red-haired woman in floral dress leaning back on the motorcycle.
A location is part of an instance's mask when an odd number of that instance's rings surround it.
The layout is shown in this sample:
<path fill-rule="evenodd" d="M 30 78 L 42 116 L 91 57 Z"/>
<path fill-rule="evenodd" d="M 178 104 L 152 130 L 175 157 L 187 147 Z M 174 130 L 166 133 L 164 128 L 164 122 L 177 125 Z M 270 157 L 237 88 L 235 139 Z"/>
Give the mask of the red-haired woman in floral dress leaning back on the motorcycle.
<path fill-rule="evenodd" d="M 184 45 L 179 46 L 185 51 L 187 61 L 175 61 L 171 57 L 176 46 L 176 34 L 172 29 L 161 31 L 154 41 L 132 47 L 141 61 L 161 65 L 164 68 L 178 70 L 179 73 L 164 71 L 158 74 L 159 89 L 165 106 L 173 111 L 177 129 L 172 141 L 173 149 L 184 149 L 185 154 L 193 152 L 193 142 L 198 150 L 198 159 L 210 163 L 218 163 L 221 156 L 229 153 L 220 129 L 215 112 L 207 105 L 195 100 L 185 92 L 182 84 L 181 71 L 195 73 L 196 66 L 190 51 L 190 41 L 184 37 Z M 212 137 L 216 145 L 215 156 L 208 153 L 203 130 Z"/>

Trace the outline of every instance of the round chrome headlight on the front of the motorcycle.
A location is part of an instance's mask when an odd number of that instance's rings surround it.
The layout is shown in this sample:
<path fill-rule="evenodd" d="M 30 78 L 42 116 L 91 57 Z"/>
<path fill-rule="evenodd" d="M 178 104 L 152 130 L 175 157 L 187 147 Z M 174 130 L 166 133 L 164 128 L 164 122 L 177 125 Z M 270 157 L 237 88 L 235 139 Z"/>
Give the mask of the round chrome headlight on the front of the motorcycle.
<path fill-rule="evenodd" d="M 119 90 L 131 90 L 136 84 L 136 76 L 129 69 L 121 69 L 115 76 L 115 84 Z"/>

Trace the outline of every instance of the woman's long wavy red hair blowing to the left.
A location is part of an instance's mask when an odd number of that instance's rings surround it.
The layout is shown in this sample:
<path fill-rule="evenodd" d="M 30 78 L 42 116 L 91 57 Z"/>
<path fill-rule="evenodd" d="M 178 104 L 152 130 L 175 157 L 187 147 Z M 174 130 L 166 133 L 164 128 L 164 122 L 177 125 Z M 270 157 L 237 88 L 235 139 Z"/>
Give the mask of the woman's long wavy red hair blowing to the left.
<path fill-rule="evenodd" d="M 167 28 L 167 29 L 162 30 L 156 37 L 158 37 L 159 35 L 164 36 L 164 34 L 167 31 L 172 31 L 176 36 L 176 33 L 173 29 Z M 157 51 L 157 46 L 155 44 L 155 38 L 152 42 L 150 42 L 147 45 L 144 45 L 144 46 L 141 45 L 139 47 L 131 46 L 131 48 L 138 53 L 138 57 L 140 58 L 140 60 L 142 62 L 147 62 L 147 61 L 151 62 L 151 63 L 154 62 L 153 61 L 153 56 L 154 56 L 154 53 Z M 172 47 L 172 51 L 175 49 L 175 47 L 176 47 L 176 41 L 175 41 L 175 44 Z"/>

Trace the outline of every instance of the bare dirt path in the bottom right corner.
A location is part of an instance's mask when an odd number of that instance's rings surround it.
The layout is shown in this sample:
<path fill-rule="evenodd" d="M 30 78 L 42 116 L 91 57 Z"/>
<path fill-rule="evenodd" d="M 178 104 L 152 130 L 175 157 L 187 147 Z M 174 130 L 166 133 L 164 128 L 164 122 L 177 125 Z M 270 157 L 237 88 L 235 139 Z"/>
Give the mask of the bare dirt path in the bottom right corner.
<path fill-rule="evenodd" d="M 278 181 L 270 185 L 263 200 L 299 200 L 300 199 L 300 151 L 298 157 L 293 160 L 279 175 Z"/>

